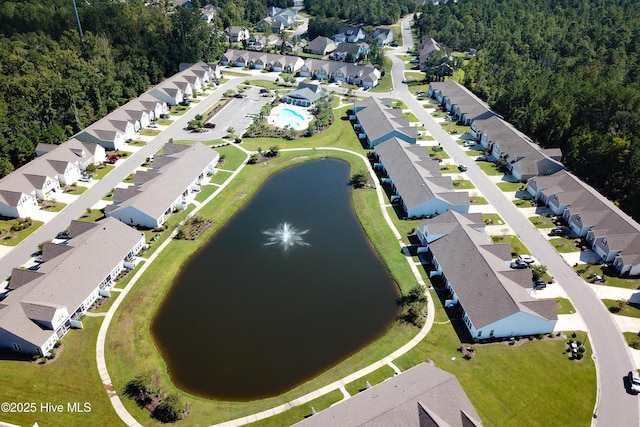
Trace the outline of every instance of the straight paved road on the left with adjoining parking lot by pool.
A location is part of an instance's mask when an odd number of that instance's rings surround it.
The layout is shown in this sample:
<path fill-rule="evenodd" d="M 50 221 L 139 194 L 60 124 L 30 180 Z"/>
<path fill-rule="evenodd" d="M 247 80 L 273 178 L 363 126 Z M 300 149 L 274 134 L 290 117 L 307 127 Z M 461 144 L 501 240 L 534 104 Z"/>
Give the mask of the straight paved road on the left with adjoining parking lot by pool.
<path fill-rule="evenodd" d="M 263 78 L 268 79 L 269 77 L 265 76 Z M 235 87 L 244 80 L 245 78 L 243 77 L 229 80 L 225 84 L 219 86 L 218 89 L 216 89 L 207 98 L 204 98 L 201 102 L 197 104 L 192 103 L 192 108 L 190 108 L 183 116 L 173 116 L 172 118 L 175 122 L 171 126 L 165 129 L 151 142 L 148 142 L 141 147 L 139 151 L 129 156 L 125 161 L 121 161 L 114 170 L 105 175 L 101 180 L 96 181 L 91 188 L 78 196 L 76 201 L 67 205 L 62 212 L 58 213 L 58 215 L 42 225 L 18 246 L 2 256 L 2 258 L 0 258 L 0 278 L 4 279 L 8 277 L 14 267 L 18 267 L 27 262 L 31 257 L 31 254 L 37 251 L 40 243 L 52 239 L 59 231 L 67 228 L 71 220 L 79 218 L 87 208 L 93 206 L 105 194 L 107 194 L 109 190 L 114 188 L 118 183 L 129 176 L 129 174 L 131 174 L 138 166 L 144 163 L 147 157 L 153 156 L 153 154 L 168 142 L 170 138 L 173 138 L 174 140 L 185 139 L 187 137 L 189 139 L 193 139 L 192 137 L 194 134 L 187 133 L 183 129 L 187 126 L 189 120 L 192 120 L 196 114 L 203 114 L 211 105 L 221 98 L 222 94 L 226 90 L 235 89 Z M 231 101 L 230 105 L 225 108 L 226 112 L 223 110 L 223 112 L 225 112 L 224 117 L 226 123 L 224 125 L 222 123 L 220 124 L 221 133 L 224 133 L 229 126 L 233 126 L 236 129 L 236 132 L 238 132 L 246 128 L 246 126 L 251 123 L 251 119 L 246 118 L 246 114 L 259 111 L 262 105 L 260 102 L 262 101 L 253 100 L 258 99 L 257 89 L 255 89 L 256 93 L 253 93 L 253 91 L 250 92 L 251 95 L 248 98 L 234 99 Z M 218 131 L 218 129 L 216 129 L 216 131 Z M 204 139 L 213 139 L 221 136 L 215 135 L 216 134 L 214 133 L 202 134 Z"/>

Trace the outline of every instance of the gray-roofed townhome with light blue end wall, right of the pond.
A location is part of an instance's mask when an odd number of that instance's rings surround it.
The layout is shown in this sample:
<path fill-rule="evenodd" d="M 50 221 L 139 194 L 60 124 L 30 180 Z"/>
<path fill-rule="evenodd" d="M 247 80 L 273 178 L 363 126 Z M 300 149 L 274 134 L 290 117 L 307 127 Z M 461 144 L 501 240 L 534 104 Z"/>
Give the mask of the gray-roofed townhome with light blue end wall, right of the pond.
<path fill-rule="evenodd" d="M 430 277 L 449 295 L 471 338 L 487 340 L 550 333 L 558 316 L 555 300 L 530 296 L 529 269 L 511 269 L 511 245 L 494 244 L 482 214 L 448 211 L 423 221 L 419 253 L 431 264 Z"/>

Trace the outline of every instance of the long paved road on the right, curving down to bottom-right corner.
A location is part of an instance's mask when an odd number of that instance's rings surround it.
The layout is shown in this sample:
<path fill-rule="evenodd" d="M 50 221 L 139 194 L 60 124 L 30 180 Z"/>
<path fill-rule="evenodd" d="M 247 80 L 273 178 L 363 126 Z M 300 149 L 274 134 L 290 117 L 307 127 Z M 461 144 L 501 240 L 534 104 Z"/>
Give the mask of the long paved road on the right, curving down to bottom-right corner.
<path fill-rule="evenodd" d="M 402 28 L 404 47 L 411 49 L 413 41 L 410 31 L 407 31 L 409 19 L 405 19 Z M 465 151 L 424 110 L 409 93 L 406 85 L 400 83 L 404 78 L 404 63 L 395 56 L 396 52 L 397 50 L 389 55 L 393 61 L 392 76 L 396 97 L 414 112 L 418 120 L 445 148 L 451 158 L 464 159 L 469 167 L 466 175 L 511 226 L 531 253 L 547 266 L 549 273 L 562 285 L 574 307 L 582 313 L 589 329 L 598 376 L 598 401 L 594 411 L 597 418 L 594 418 L 593 424 L 605 427 L 637 427 L 640 425 L 638 397 L 628 394 L 623 386 L 624 375 L 635 368 L 628 346 L 612 316 L 593 290 L 585 286 L 584 281 L 564 262 L 540 232 L 489 180 L 487 175 L 473 161 L 469 161 L 470 157 Z"/>

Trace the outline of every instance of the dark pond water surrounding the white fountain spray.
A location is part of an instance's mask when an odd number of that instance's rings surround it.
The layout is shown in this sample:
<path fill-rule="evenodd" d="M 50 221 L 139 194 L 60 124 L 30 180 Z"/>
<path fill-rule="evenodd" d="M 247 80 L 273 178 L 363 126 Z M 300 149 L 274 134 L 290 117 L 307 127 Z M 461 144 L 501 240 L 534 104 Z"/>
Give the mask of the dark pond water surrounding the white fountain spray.
<path fill-rule="evenodd" d="M 274 175 L 183 267 L 151 325 L 176 385 L 222 400 L 278 395 L 386 331 L 397 288 L 348 180 L 338 160 Z M 308 230 L 306 245 L 265 245 L 284 222 Z"/>

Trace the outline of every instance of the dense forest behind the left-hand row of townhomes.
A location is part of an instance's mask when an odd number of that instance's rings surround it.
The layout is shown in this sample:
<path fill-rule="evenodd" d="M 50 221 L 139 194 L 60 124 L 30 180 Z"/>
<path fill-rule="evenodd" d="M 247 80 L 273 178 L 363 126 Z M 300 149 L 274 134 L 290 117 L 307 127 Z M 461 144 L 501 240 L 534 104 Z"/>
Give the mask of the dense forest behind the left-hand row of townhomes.
<path fill-rule="evenodd" d="M 207 25 L 200 11 L 170 2 L 0 0 L 0 177 L 27 163 L 38 143 L 59 144 L 175 74 L 180 62 L 215 61 L 224 28 L 262 19 L 293 0 L 193 0 L 220 7 Z"/>

